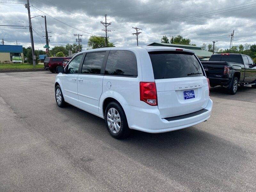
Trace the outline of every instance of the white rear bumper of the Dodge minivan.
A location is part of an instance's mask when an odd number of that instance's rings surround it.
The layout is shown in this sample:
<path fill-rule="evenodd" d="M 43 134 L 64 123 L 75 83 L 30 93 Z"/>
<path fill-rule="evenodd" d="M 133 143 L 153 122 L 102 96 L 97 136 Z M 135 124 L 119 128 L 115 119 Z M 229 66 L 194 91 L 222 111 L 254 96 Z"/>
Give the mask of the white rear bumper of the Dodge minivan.
<path fill-rule="evenodd" d="M 206 106 L 204 113 L 183 119 L 168 121 L 161 118 L 158 108 L 143 109 L 123 105 L 130 129 L 149 133 L 162 133 L 187 128 L 207 120 L 212 112 L 212 100 Z"/>

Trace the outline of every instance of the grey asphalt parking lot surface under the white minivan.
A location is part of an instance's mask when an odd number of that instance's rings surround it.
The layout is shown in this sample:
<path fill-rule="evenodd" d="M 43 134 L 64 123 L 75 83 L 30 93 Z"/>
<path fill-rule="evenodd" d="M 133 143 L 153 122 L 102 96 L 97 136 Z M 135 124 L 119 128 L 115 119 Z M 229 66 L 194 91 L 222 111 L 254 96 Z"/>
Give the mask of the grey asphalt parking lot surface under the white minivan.
<path fill-rule="evenodd" d="M 256 89 L 213 88 L 207 122 L 116 140 L 57 107 L 55 75 L 0 73 L 0 191 L 256 191 Z"/>

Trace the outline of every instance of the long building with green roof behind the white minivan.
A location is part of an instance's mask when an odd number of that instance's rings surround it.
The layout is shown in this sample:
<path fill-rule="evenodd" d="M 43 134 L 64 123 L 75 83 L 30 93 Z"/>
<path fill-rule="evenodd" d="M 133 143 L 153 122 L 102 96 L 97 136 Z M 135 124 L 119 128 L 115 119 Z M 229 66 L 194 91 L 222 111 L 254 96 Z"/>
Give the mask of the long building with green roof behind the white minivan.
<path fill-rule="evenodd" d="M 212 56 L 212 52 L 204 51 L 201 47 L 194 46 L 194 45 L 181 45 L 181 44 L 171 44 L 171 43 L 151 43 L 148 44 L 148 46 L 167 46 L 167 47 L 178 47 L 183 49 L 189 49 L 195 52 L 196 56 L 200 60 L 209 60 L 209 58 Z M 215 54 L 215 53 L 214 53 Z"/>

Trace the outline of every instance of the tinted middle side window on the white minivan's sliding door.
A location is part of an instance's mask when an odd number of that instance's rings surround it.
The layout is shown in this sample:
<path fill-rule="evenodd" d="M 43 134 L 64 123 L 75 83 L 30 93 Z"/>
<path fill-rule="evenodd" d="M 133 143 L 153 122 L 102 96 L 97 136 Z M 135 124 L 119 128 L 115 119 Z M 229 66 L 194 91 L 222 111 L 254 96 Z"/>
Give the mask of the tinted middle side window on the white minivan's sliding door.
<path fill-rule="evenodd" d="M 106 52 L 86 53 L 82 73 L 100 74 L 101 65 Z"/>

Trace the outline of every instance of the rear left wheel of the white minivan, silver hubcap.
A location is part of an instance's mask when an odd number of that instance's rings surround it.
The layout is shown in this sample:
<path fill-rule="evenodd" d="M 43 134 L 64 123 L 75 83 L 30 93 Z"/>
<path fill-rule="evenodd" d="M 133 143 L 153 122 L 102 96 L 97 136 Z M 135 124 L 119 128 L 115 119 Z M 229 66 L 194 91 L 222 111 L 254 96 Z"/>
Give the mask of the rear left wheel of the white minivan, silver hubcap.
<path fill-rule="evenodd" d="M 105 110 L 105 123 L 110 135 L 116 139 L 126 138 L 131 132 L 124 109 L 116 102 L 108 104 Z"/>

